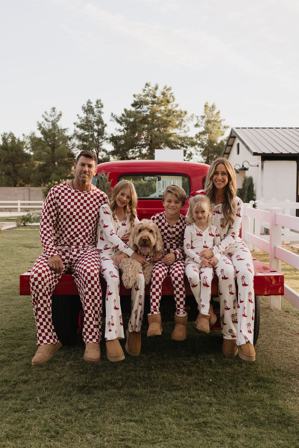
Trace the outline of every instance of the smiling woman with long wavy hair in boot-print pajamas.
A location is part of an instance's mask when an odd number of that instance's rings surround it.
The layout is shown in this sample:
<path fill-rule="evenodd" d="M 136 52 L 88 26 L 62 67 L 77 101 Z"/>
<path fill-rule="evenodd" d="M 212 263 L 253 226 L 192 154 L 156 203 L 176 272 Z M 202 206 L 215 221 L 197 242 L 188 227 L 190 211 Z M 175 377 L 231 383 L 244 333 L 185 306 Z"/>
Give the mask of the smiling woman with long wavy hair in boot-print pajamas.
<path fill-rule="evenodd" d="M 243 202 L 236 196 L 236 191 L 234 168 L 227 159 L 216 159 L 208 171 L 205 192 L 211 201 L 212 223 L 219 230 L 221 244 L 213 250 L 202 250 L 199 255 L 212 258 L 218 252 L 222 253 L 217 266 L 212 259 L 211 264 L 218 276 L 223 353 L 229 357 L 238 354 L 245 361 L 255 361 L 254 270 L 251 253 L 239 237 Z M 235 278 L 238 283 L 238 302 Z"/>

